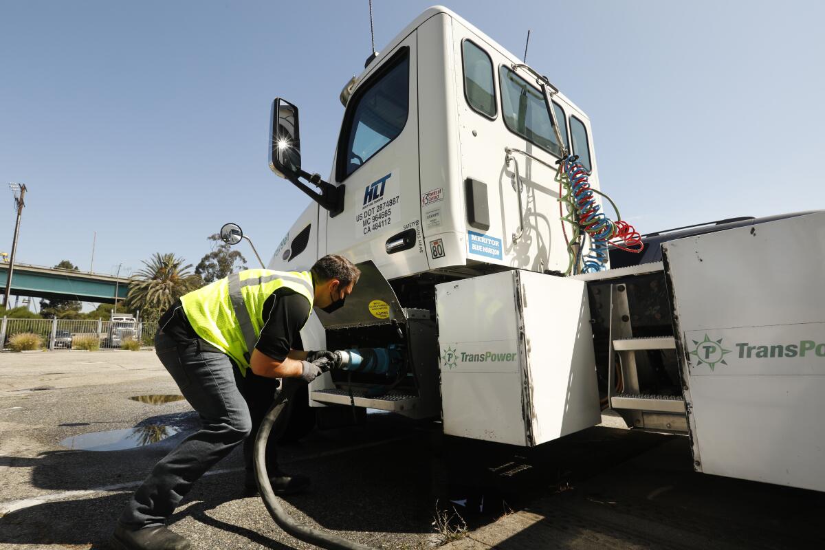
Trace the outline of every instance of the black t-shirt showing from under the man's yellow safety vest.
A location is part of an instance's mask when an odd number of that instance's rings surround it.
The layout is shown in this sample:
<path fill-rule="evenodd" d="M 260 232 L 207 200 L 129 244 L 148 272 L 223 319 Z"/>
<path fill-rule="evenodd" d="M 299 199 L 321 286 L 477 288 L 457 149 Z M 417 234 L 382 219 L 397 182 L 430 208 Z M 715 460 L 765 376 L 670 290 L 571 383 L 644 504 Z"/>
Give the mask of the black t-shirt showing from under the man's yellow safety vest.
<path fill-rule="evenodd" d="M 273 292 L 263 303 L 263 327 L 255 349 L 276 361 L 285 360 L 298 340 L 299 331 L 309 318 L 309 302 L 295 290 L 281 288 Z M 192 328 L 181 300 L 163 313 L 158 326 L 174 340 L 184 341 L 199 338 Z M 200 339 L 205 350 L 220 351 Z"/>

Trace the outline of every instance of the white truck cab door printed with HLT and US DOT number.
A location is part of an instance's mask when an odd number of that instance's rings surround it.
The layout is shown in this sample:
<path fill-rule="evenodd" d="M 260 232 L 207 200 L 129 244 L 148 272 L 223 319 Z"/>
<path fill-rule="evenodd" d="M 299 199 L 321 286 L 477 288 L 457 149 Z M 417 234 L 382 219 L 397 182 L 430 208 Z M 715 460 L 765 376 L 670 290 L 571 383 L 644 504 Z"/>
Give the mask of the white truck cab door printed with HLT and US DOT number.
<path fill-rule="evenodd" d="M 428 269 L 418 172 L 417 31 L 374 61 L 344 114 L 331 180 L 347 186 L 327 219 L 328 253 L 372 260 L 388 278 Z"/>

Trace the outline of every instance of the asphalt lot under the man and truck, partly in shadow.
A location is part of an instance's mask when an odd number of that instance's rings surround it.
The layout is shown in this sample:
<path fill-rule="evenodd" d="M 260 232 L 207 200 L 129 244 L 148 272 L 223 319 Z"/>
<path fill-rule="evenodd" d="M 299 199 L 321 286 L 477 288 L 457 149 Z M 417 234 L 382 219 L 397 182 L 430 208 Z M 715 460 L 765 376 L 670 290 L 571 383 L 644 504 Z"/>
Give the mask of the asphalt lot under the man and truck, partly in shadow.
<path fill-rule="evenodd" d="M 149 351 L 0 354 L 0 549 L 109 548 L 131 491 L 198 424 L 185 401 L 131 397 L 178 393 Z M 77 448 L 110 430 L 144 445 Z M 287 510 L 399 550 L 444 542 L 439 510 L 468 525 L 456 549 L 825 548 L 823 494 L 695 473 L 685 437 L 608 422 L 529 450 L 440 431 L 370 414 L 281 445 L 282 467 L 313 480 Z M 314 548 L 243 494 L 238 451 L 196 483 L 170 527 L 193 548 Z"/>

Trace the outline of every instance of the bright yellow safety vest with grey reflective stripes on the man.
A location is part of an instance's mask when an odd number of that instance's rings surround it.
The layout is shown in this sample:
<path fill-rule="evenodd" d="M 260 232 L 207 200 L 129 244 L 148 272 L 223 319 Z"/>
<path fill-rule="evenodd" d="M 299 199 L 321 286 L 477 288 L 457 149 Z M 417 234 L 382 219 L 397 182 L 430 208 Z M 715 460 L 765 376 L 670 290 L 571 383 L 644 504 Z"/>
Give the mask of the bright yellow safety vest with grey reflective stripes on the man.
<path fill-rule="evenodd" d="M 314 287 L 309 271 L 244 270 L 181 297 L 183 311 L 197 335 L 229 355 L 243 376 L 263 327 L 263 304 L 277 289 L 295 290 L 309 301 Z"/>

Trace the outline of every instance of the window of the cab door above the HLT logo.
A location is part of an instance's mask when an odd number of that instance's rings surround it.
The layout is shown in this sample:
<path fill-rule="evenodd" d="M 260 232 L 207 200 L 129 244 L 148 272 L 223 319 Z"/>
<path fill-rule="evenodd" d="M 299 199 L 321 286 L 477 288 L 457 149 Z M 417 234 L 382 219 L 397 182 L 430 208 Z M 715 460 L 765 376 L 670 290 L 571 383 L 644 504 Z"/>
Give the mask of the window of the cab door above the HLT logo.
<path fill-rule="evenodd" d="M 397 138 L 408 111 L 409 49 L 404 48 L 350 100 L 338 142 L 337 180 L 343 181 Z"/>

